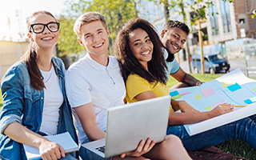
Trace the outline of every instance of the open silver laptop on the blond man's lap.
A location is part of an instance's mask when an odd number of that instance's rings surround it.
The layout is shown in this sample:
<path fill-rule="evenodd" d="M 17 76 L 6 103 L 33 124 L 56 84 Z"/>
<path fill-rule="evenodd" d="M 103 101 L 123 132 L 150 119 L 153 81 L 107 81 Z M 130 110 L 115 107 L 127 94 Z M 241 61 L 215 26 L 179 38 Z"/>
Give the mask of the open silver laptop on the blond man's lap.
<path fill-rule="evenodd" d="M 110 158 L 136 150 L 138 143 L 166 138 L 170 95 L 116 106 L 107 110 L 106 138 L 82 144 L 88 150 Z"/>

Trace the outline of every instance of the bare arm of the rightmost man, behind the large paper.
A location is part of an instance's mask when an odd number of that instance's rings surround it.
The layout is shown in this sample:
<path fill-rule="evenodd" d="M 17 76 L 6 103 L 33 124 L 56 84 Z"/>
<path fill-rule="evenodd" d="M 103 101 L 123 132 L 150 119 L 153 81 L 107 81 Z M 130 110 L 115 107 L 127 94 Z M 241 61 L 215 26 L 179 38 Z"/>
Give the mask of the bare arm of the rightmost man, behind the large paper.
<path fill-rule="evenodd" d="M 175 74 L 170 74 L 173 78 L 175 78 L 178 82 L 182 82 L 184 86 L 200 86 L 202 82 L 198 81 L 198 79 L 194 78 L 190 74 L 186 74 L 184 70 L 180 67 L 179 70 Z"/>

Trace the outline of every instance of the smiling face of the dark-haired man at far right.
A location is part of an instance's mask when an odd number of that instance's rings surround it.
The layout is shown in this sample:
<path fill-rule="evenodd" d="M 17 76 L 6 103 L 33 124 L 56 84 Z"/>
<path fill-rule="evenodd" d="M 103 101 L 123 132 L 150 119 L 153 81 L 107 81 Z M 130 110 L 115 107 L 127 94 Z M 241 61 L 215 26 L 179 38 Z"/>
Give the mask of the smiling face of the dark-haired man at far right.
<path fill-rule="evenodd" d="M 172 27 L 169 30 L 162 30 L 160 39 L 170 53 L 176 54 L 183 49 L 187 34 L 178 27 Z"/>

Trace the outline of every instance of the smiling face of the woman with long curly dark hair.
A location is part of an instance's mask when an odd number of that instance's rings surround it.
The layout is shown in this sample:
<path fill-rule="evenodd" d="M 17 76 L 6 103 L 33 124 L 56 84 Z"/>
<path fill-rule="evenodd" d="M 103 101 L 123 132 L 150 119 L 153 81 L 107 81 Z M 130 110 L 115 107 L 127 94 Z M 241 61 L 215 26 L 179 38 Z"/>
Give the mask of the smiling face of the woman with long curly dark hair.
<path fill-rule="evenodd" d="M 154 48 L 150 36 L 140 28 L 133 30 L 129 35 L 129 46 L 134 57 L 147 69 L 147 62 L 151 60 Z"/>

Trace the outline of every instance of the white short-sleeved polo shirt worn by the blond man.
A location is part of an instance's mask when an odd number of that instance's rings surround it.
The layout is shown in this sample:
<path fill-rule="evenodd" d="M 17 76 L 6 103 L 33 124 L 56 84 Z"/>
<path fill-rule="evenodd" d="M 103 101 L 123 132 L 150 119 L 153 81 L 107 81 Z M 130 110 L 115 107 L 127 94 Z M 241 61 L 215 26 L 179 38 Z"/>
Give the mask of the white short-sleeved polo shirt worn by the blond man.
<path fill-rule="evenodd" d="M 98 127 L 106 130 L 106 110 L 123 104 L 126 87 L 116 58 L 109 56 L 108 66 L 102 66 L 89 54 L 75 62 L 66 71 L 66 94 L 72 108 L 92 102 Z M 74 124 L 79 142 L 86 138 L 73 109 Z"/>

